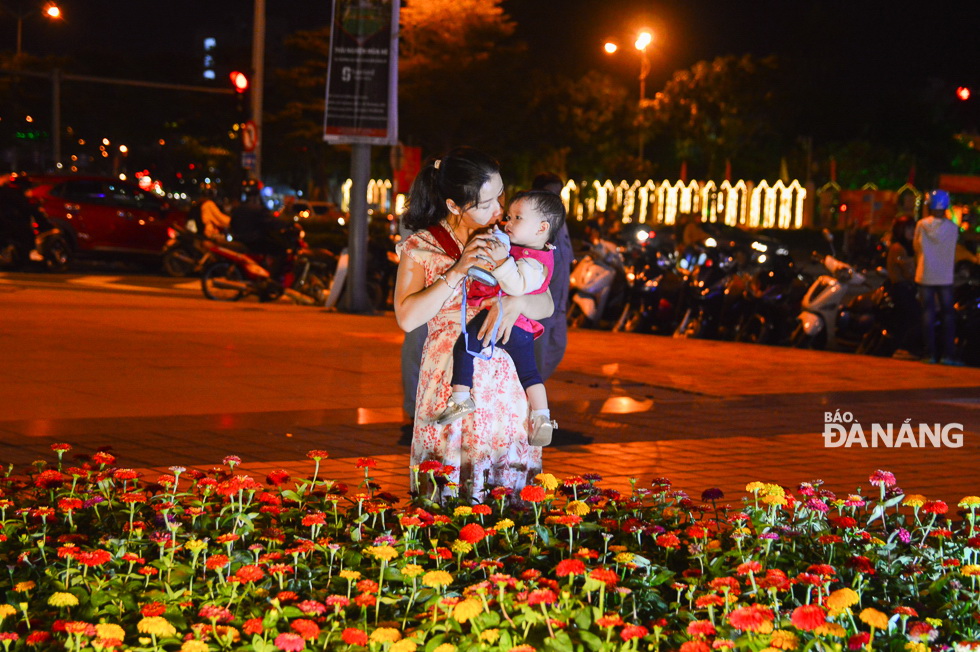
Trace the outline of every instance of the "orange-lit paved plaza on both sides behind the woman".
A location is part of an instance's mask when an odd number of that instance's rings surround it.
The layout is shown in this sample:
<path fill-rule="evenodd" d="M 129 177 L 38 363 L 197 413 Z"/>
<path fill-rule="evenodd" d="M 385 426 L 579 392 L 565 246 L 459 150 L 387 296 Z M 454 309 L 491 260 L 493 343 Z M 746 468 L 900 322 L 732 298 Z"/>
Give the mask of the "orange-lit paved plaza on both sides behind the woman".
<path fill-rule="evenodd" d="M 399 346 L 393 316 L 353 316 L 199 297 L 0 286 L 0 462 L 111 446 L 152 479 L 171 465 L 238 455 L 256 477 L 356 484 L 356 458 L 404 494 Z M 548 382 L 559 422 L 545 470 L 604 486 L 667 477 L 728 498 L 747 482 L 822 479 L 868 488 L 878 468 L 906 492 L 955 504 L 980 494 L 980 369 L 652 335 L 574 331 Z M 874 424 L 962 425 L 962 446 L 827 447 L 826 413 Z M 960 432 L 953 426 L 949 432 Z"/>

